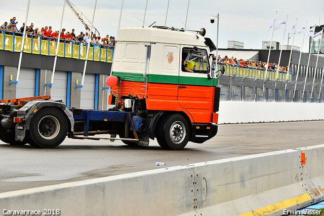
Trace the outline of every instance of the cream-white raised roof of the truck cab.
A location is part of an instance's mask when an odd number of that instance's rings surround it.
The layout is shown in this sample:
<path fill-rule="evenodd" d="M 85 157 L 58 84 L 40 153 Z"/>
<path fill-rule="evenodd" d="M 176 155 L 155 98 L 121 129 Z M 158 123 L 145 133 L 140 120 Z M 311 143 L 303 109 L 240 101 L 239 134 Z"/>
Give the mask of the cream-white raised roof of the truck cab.
<path fill-rule="evenodd" d="M 117 41 L 170 43 L 206 47 L 204 37 L 198 33 L 160 28 L 120 28 Z"/>

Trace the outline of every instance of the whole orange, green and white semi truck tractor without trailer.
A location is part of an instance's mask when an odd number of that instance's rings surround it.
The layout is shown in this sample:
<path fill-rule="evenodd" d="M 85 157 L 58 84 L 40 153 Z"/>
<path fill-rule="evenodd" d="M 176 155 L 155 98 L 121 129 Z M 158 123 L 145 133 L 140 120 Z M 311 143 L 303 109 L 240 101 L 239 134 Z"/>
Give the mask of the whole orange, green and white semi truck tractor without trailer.
<path fill-rule="evenodd" d="M 55 148 L 67 137 L 120 139 L 181 150 L 217 133 L 220 87 L 215 45 L 205 29 L 121 28 L 115 44 L 108 110 L 70 109 L 48 96 L 0 101 L 0 139 Z M 110 134 L 99 137 L 97 134 Z M 96 135 L 96 136 L 95 136 Z"/>

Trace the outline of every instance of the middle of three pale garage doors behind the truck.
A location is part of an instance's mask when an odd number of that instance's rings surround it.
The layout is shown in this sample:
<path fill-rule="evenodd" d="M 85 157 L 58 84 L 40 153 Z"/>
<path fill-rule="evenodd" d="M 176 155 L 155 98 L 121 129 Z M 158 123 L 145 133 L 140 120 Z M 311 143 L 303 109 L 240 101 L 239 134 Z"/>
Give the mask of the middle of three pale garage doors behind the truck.
<path fill-rule="evenodd" d="M 67 72 L 55 71 L 51 99 L 62 100 L 66 105 Z"/>

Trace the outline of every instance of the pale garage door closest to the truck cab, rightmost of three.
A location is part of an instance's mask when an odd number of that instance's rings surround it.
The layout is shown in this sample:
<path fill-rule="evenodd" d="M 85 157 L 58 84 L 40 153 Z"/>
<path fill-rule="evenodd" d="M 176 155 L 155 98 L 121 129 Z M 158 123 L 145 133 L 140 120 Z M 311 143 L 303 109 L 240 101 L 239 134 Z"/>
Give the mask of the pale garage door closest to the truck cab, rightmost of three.
<path fill-rule="evenodd" d="M 85 75 L 83 88 L 81 88 L 80 109 L 95 109 L 96 75 Z"/>

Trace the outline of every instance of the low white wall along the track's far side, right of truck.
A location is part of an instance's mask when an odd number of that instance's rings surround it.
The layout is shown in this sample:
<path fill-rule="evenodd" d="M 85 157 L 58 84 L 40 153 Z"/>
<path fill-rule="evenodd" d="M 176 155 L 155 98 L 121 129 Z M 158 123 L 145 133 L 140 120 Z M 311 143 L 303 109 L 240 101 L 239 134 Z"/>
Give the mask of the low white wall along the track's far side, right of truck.
<path fill-rule="evenodd" d="M 323 120 L 324 103 L 225 101 L 218 123 Z"/>

